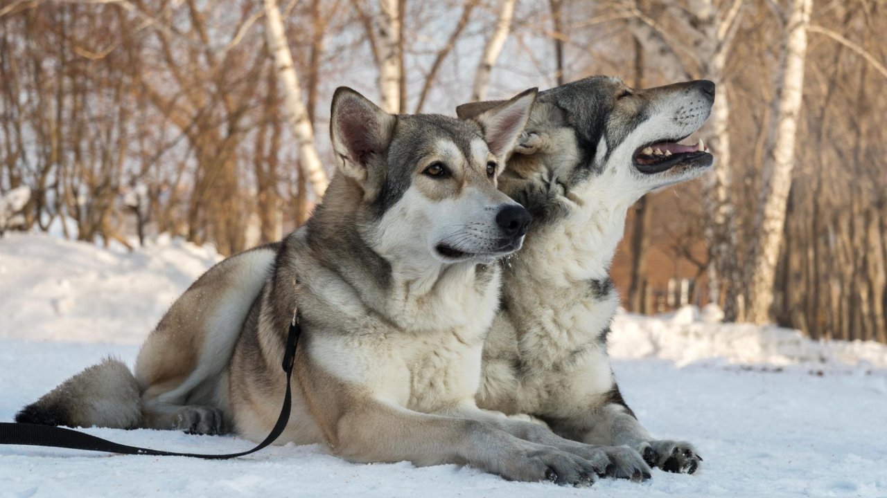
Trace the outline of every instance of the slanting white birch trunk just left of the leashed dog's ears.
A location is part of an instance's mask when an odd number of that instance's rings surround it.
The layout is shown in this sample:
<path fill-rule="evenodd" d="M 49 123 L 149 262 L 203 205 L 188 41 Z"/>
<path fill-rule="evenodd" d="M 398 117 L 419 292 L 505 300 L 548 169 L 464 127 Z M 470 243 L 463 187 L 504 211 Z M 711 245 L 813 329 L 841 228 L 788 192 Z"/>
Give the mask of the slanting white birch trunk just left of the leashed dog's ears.
<path fill-rule="evenodd" d="M 264 0 L 264 6 L 268 47 L 274 58 L 280 86 L 283 87 L 286 96 L 284 102 L 287 107 L 287 121 L 293 129 L 293 136 L 299 147 L 302 174 L 308 176 L 311 189 L 319 200 L 326 192 L 329 178 L 314 144 L 314 128 L 308 119 L 308 110 L 302 102 L 302 87 L 299 86 L 299 76 L 295 72 L 293 54 L 287 45 L 287 35 L 284 33 L 277 0 Z"/>

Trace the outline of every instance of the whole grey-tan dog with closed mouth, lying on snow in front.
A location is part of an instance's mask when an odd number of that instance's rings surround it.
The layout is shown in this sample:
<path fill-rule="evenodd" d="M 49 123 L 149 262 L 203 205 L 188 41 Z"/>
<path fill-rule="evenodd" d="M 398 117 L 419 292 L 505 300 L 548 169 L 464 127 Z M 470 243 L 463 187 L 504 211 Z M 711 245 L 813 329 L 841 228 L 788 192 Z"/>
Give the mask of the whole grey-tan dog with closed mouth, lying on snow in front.
<path fill-rule="evenodd" d="M 279 365 L 298 311 L 298 390 L 280 443 L 573 485 L 613 466 L 640 469 L 628 448 L 562 439 L 475 406 L 498 308 L 496 261 L 521 246 L 530 222 L 497 177 L 535 97 L 528 90 L 458 121 L 391 115 L 337 90 L 339 171 L 310 221 L 201 276 L 146 339 L 135 377 L 121 362 L 90 367 L 16 420 L 262 440 L 283 399 Z"/>

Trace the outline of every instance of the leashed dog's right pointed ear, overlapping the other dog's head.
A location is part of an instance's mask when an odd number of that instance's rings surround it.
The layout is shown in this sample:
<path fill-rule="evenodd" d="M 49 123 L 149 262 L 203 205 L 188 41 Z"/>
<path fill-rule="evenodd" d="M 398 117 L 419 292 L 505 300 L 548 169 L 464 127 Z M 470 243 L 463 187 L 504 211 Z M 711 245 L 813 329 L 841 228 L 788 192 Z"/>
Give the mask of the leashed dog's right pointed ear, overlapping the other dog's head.
<path fill-rule="evenodd" d="M 530 119 L 537 93 L 538 89 L 528 89 L 472 118 L 483 128 L 484 140 L 496 157 L 506 158 L 514 149 L 518 136 L 521 136 L 523 127 Z"/>

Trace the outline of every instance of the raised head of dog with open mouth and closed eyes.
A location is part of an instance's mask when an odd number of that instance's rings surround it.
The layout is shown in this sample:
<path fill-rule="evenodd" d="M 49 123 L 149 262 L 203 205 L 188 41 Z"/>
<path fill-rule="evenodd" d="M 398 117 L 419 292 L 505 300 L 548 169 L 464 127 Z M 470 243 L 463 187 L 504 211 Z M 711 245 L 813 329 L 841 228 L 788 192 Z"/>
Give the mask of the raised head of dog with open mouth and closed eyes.
<path fill-rule="evenodd" d="M 715 85 L 707 81 L 631 89 L 605 76 L 541 92 L 509 160 L 503 190 L 521 198 L 528 183 L 554 183 L 580 198 L 605 192 L 608 200 L 630 204 L 648 191 L 695 178 L 713 158 L 701 140 L 679 142 L 703 125 L 714 97 Z M 457 113 L 470 118 L 493 105 L 498 103 L 460 105 Z"/>

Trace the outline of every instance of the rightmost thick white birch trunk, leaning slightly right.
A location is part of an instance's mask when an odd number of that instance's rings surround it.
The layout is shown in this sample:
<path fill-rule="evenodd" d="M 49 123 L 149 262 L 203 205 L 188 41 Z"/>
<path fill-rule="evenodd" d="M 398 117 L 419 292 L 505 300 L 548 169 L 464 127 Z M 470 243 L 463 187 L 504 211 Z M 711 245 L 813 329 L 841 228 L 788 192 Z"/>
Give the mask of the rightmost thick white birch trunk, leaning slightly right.
<path fill-rule="evenodd" d="M 755 233 L 757 241 L 750 261 L 748 320 L 768 323 L 773 304 L 773 279 L 779 258 L 785 213 L 795 162 L 797 121 L 804 94 L 807 25 L 812 0 L 793 0 L 785 27 L 781 57 L 781 91 L 776 103 L 773 147 L 767 155 Z"/>

